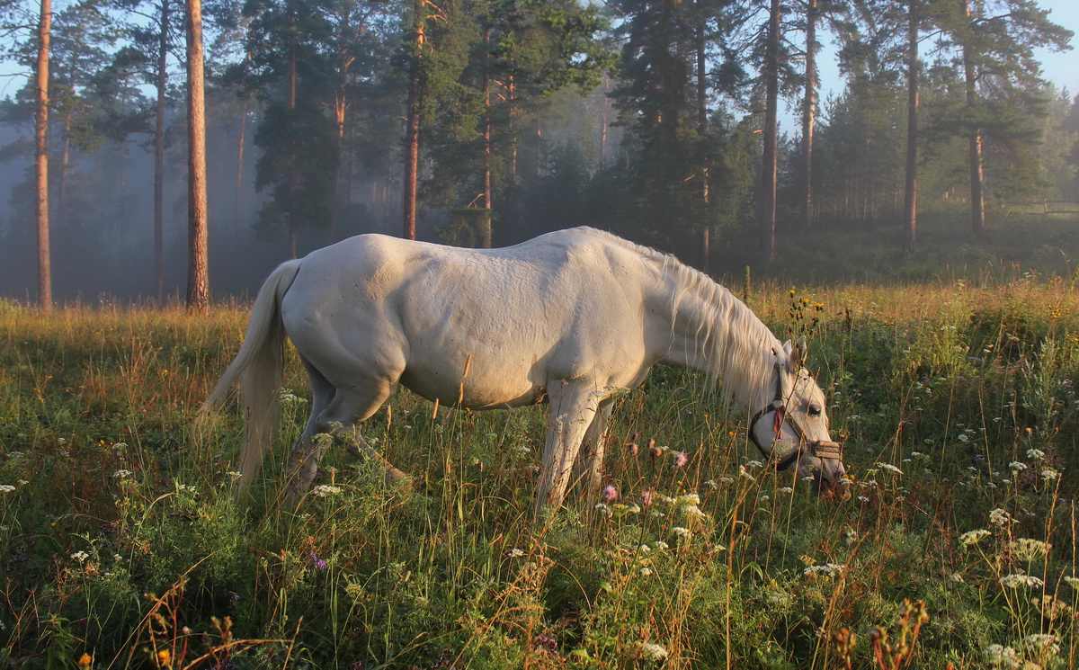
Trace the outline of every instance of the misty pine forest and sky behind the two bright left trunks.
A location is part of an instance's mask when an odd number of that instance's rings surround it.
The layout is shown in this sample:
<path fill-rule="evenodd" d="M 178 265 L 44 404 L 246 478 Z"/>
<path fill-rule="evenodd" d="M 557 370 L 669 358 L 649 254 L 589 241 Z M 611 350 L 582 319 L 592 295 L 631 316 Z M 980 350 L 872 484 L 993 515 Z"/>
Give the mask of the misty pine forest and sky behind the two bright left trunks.
<path fill-rule="evenodd" d="M 57 297 L 180 293 L 190 8 L 51 8 L 43 115 L 43 6 L 12 0 L 0 16 L 16 73 L 0 109 L 0 183 L 11 189 L 0 290 L 31 302 L 41 290 L 33 221 L 47 188 Z M 747 265 L 782 274 L 804 246 L 791 241 L 816 241 L 821 257 L 857 232 L 916 275 L 941 258 L 999 260 L 978 245 L 1034 203 L 1079 208 L 1079 99 L 1035 59 L 1070 49 L 1071 32 L 1033 0 L 201 10 L 216 296 L 361 232 L 482 247 L 578 224 L 736 276 Z M 828 90 L 822 53 L 842 77 Z M 919 223 L 945 234 L 919 238 Z M 944 247 L 962 254 L 941 257 Z"/>

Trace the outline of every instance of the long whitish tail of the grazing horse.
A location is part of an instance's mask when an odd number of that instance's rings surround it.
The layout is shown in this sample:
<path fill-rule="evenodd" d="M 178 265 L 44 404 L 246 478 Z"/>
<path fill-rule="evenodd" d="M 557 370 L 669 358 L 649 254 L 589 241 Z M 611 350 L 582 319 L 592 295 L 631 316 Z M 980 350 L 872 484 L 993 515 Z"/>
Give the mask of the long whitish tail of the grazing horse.
<path fill-rule="evenodd" d="M 240 381 L 245 425 L 237 494 L 250 486 L 267 449 L 273 442 L 281 412 L 278 387 L 285 367 L 286 332 L 281 318 L 281 301 L 296 279 L 301 262 L 291 260 L 282 263 L 262 284 L 251 307 L 244 343 L 202 406 L 201 412 L 205 414 Z"/>

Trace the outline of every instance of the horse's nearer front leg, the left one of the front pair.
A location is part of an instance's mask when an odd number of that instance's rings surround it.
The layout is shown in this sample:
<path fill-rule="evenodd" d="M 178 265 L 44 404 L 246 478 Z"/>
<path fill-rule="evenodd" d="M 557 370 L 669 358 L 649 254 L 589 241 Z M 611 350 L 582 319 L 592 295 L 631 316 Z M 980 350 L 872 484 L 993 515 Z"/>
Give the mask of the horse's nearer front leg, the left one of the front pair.
<path fill-rule="evenodd" d="M 597 418 L 597 409 L 606 395 L 593 383 L 579 380 L 547 385 L 550 412 L 547 416 L 547 441 L 536 490 L 536 517 L 547 508 L 557 508 L 565 497 L 573 465 L 581 443 Z"/>

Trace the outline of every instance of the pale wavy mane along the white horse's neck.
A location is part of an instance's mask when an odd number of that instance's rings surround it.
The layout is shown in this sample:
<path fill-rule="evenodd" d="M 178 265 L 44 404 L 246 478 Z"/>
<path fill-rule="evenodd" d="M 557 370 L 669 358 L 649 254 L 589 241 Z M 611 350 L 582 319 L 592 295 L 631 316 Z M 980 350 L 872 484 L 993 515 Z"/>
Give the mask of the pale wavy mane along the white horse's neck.
<path fill-rule="evenodd" d="M 734 399 L 745 407 L 755 407 L 771 379 L 779 340 L 746 303 L 726 287 L 714 282 L 704 272 L 691 268 L 671 254 L 639 245 L 597 229 L 588 229 L 611 244 L 618 245 L 641 256 L 655 265 L 661 276 L 674 282 L 671 296 L 673 324 L 679 306 L 688 296 L 697 296 L 705 303 L 701 320 L 697 325 L 697 346 L 705 359 L 705 371 L 721 380 L 721 392 L 726 399 Z"/>

